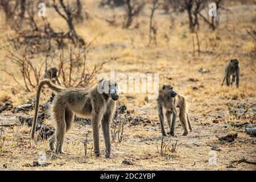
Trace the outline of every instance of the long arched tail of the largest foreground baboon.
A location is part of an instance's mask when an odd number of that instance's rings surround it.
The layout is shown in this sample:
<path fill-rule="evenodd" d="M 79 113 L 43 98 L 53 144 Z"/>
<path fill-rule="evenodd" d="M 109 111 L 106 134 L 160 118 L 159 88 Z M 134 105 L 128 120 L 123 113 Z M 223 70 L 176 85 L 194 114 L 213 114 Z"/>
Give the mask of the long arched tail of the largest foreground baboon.
<path fill-rule="evenodd" d="M 52 89 L 55 92 L 61 92 L 63 88 L 61 86 L 57 86 L 55 84 L 52 84 L 51 81 L 48 79 L 44 79 L 39 82 L 38 84 L 38 91 L 36 92 L 36 107 L 35 107 L 35 117 L 32 122 L 32 129 L 30 134 L 30 139 L 34 140 L 35 138 L 35 128 L 36 128 L 36 121 L 38 121 L 38 110 L 39 110 L 39 102 L 40 102 L 40 93 L 42 90 L 43 85 L 48 85 L 50 89 Z"/>

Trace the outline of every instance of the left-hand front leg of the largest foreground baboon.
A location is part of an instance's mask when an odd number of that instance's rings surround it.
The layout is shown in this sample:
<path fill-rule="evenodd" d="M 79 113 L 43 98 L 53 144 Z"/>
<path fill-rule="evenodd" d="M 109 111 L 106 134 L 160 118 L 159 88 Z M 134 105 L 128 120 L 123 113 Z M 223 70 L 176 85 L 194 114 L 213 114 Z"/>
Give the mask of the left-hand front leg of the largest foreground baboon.
<path fill-rule="evenodd" d="M 94 154 L 96 157 L 100 156 L 100 135 L 99 135 L 99 128 L 100 128 L 100 121 L 102 119 L 102 114 L 100 111 L 93 114 L 92 117 L 92 127 L 93 127 L 93 144 L 94 144 Z"/>

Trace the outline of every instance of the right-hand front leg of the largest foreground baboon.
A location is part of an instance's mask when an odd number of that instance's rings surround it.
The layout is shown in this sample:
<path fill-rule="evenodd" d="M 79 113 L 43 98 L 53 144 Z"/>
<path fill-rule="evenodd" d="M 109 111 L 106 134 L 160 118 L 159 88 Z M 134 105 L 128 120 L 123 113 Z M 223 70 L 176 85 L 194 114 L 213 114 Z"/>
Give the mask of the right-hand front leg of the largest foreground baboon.
<path fill-rule="evenodd" d="M 106 158 L 110 158 L 111 152 L 111 143 L 110 143 L 110 115 L 109 113 L 105 113 L 104 117 L 101 120 L 102 132 L 104 135 L 105 140 L 105 147 L 106 147 Z"/>

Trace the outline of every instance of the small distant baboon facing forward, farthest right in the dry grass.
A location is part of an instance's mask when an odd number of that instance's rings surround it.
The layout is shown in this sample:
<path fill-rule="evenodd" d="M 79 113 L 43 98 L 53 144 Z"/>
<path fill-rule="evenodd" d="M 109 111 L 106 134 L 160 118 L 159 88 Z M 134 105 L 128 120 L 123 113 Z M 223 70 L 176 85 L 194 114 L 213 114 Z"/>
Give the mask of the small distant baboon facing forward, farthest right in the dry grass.
<path fill-rule="evenodd" d="M 221 86 L 224 84 L 225 80 L 226 80 L 226 85 L 228 86 L 230 85 L 230 76 L 232 76 L 231 86 L 233 85 L 233 82 L 236 80 L 236 85 L 238 88 L 239 81 L 240 81 L 240 67 L 239 67 L 239 61 L 237 59 L 232 59 L 226 64 L 225 76 L 223 78 Z"/>

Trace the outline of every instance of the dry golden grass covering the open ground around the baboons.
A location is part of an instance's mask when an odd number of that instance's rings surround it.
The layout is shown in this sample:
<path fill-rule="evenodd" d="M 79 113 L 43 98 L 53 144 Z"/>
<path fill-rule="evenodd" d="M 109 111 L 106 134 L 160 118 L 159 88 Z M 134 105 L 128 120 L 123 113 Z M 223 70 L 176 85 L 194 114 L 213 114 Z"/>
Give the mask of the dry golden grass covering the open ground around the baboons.
<path fill-rule="evenodd" d="M 188 32 L 187 16 L 180 15 L 176 20 L 176 27 L 170 30 L 170 18 L 156 11 L 155 22 L 158 26 L 158 46 L 147 47 L 148 43 L 148 16 L 143 15 L 138 22 L 142 22 L 139 29 L 123 30 L 121 27 L 112 27 L 104 20 L 93 18 L 93 14 L 108 14 L 109 11 L 100 11 L 97 7 L 98 1 L 86 1 L 86 8 L 92 14 L 92 18 L 83 24 L 77 25 L 77 33 L 85 40 L 97 39 L 93 42 L 96 46 L 90 51 L 88 60 L 90 64 L 107 60 L 117 56 L 120 59 L 109 63 L 102 72 L 123 73 L 159 73 L 160 84 L 168 82 L 175 86 L 175 89 L 182 92 L 188 100 L 189 112 L 191 113 L 193 133 L 188 137 L 181 137 L 181 126 L 177 126 L 177 137 L 172 138 L 171 143 L 178 140 L 176 152 L 167 151 L 166 155 L 160 155 L 157 147 L 160 146 L 160 126 L 131 126 L 126 127 L 121 143 L 113 143 L 112 159 L 96 158 L 90 155 L 92 148 L 92 134 L 88 135 L 88 152 L 84 157 L 85 134 L 91 130 L 90 126 L 75 125 L 73 131 L 65 139 L 64 150 L 67 154 L 57 156 L 48 151 L 48 142 L 38 141 L 36 145 L 30 146 L 29 131 L 27 126 L 20 126 L 18 136 L 16 127 L 3 127 L 3 136 L 6 141 L 0 156 L 0 169 L 6 164 L 7 169 L 19 170 L 84 170 L 84 169 L 110 169 L 110 170 L 133 170 L 133 169 L 168 169 L 168 170 L 255 170 L 251 164 L 241 163 L 236 168 L 226 168 L 232 160 L 247 159 L 255 160 L 255 139 L 243 133 L 243 129 L 237 129 L 228 125 L 232 122 L 250 122 L 255 124 L 255 118 L 250 117 L 236 119 L 228 113 L 228 104 L 232 103 L 234 109 L 237 105 L 246 104 L 255 114 L 256 105 L 256 82 L 255 82 L 255 42 L 247 34 L 247 28 L 255 30 L 256 26 L 253 17 L 256 15 L 256 6 L 234 5 L 230 7 L 236 10 L 236 22 L 230 15 L 228 24 L 221 23 L 221 26 L 212 32 L 208 27 L 201 27 L 199 32 L 201 53 L 193 56 L 192 37 L 195 35 Z M 246 10 L 246 11 L 245 11 Z M 121 10 L 116 10 L 117 13 Z M 51 13 L 52 14 L 52 13 Z M 146 11 L 147 14 L 147 11 Z M 50 22 L 55 28 L 63 28 L 65 22 L 52 15 Z M 186 23 L 181 26 L 181 22 Z M 5 24 L 1 24 L 4 28 Z M 1 29 L 2 29 L 1 27 Z M 64 27 L 67 28 L 67 27 Z M 6 28 L 4 28 L 6 29 Z M 2 34 L 11 35 L 11 30 L 5 30 Z M 164 38 L 168 35 L 169 41 Z M 186 35 L 184 37 L 184 35 Z M 195 39 L 196 40 L 196 39 Z M 0 39 L 3 44 L 5 38 Z M 103 48 L 110 43 L 124 44 L 126 48 L 109 47 Z M 4 56 L 4 49 L 0 49 L 0 68 L 11 68 L 11 72 L 17 75 L 18 70 L 12 67 L 10 61 Z M 221 87 L 224 75 L 224 65 L 232 57 L 241 61 L 241 86 L 239 89 Z M 33 61 L 40 65 L 44 56 L 36 56 Z M 58 59 L 53 59 L 57 63 Z M 52 64 L 53 65 L 53 64 Z M 199 73 L 200 68 L 207 68 L 210 73 Z M 3 74 L 3 73 L 2 73 Z M 197 82 L 189 81 L 189 78 L 196 78 Z M 21 80 L 20 80 L 21 81 Z M 1 91 L 0 102 L 12 101 L 13 104 L 24 104 L 28 98 L 34 97 L 35 92 L 26 93 L 14 89 L 15 82 L 9 76 L 0 78 Z M 203 85 L 203 88 L 200 88 Z M 197 87 L 198 89 L 193 89 Z M 49 93 L 43 96 L 47 99 Z M 134 114 L 142 115 L 152 119 L 158 119 L 156 113 L 156 102 L 147 101 L 146 94 L 122 94 L 119 103 L 124 103 L 127 109 Z M 33 114 L 33 113 L 31 113 Z M 218 123 L 213 123 L 218 115 L 222 115 Z M 14 117 L 14 114 L 5 112 L 0 114 L 1 122 L 7 122 L 6 118 Z M 50 122 L 49 122 L 50 123 Z M 178 122 L 177 122 L 178 123 Z M 224 127 L 227 126 L 227 127 Z M 233 144 L 220 144 L 216 135 L 237 132 L 238 138 Z M 18 145 L 17 145 L 18 139 Z M 168 140 L 170 137 L 168 137 Z M 245 141 L 245 142 L 243 142 Z M 217 153 L 217 165 L 209 164 L 208 144 L 218 146 L 221 151 Z M 101 149 L 103 152 L 104 142 L 101 136 Z M 45 151 L 47 167 L 23 167 L 24 164 L 36 160 L 39 151 Z M 122 164 L 124 158 L 134 160 L 134 166 Z"/>

